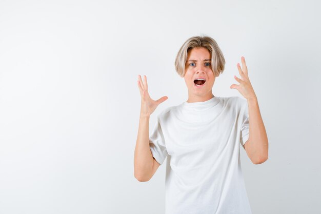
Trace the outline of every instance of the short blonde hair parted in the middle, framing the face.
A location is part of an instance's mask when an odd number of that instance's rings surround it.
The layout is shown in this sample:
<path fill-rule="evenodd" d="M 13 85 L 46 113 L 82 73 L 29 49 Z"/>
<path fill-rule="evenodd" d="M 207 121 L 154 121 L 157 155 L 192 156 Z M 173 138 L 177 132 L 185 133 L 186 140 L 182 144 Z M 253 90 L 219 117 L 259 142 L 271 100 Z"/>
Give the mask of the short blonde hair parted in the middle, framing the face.
<path fill-rule="evenodd" d="M 223 73 L 225 59 L 215 40 L 209 36 L 192 36 L 180 47 L 176 56 L 175 69 L 179 76 L 185 76 L 185 64 L 188 51 L 196 47 L 204 47 L 209 50 L 211 54 L 212 71 L 216 77 L 219 76 L 220 73 Z"/>

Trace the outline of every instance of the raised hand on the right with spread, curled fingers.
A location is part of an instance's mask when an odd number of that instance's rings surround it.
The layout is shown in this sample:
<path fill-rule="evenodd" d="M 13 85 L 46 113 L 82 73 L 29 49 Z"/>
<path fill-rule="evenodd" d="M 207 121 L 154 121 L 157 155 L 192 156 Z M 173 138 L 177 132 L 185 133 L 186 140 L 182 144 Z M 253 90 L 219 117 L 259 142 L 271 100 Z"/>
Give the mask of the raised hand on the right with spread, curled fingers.
<path fill-rule="evenodd" d="M 231 89 L 236 89 L 238 92 L 240 92 L 245 99 L 256 99 L 256 95 L 254 92 L 254 89 L 252 87 L 252 84 L 249 79 L 248 75 L 248 67 L 245 64 L 245 57 L 241 57 L 242 61 L 242 69 L 240 68 L 239 63 L 237 63 L 237 69 L 239 75 L 242 77 L 242 79 L 239 79 L 237 76 L 234 75 L 235 80 L 239 83 L 239 85 L 232 84 L 230 86 Z"/>

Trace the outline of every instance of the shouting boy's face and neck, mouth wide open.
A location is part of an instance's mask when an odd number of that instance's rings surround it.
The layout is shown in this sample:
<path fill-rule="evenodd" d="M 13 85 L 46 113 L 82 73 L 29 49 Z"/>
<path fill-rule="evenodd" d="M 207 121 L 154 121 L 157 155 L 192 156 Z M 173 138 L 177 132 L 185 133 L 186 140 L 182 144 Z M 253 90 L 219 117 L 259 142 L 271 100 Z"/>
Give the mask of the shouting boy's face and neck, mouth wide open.
<path fill-rule="evenodd" d="M 196 79 L 203 80 L 196 81 Z M 184 80 L 188 88 L 189 100 L 212 96 L 215 76 L 211 67 L 211 54 L 206 48 L 197 47 L 188 51 Z"/>

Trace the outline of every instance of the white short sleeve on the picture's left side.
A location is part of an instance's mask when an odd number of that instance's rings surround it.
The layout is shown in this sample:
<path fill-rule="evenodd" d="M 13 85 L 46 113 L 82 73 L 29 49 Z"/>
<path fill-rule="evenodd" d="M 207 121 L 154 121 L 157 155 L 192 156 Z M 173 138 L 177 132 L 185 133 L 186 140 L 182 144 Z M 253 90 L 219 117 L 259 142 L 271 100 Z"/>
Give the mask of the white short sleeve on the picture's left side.
<path fill-rule="evenodd" d="M 163 130 L 160 126 L 158 117 L 154 129 L 149 137 L 149 147 L 155 160 L 159 164 L 163 164 L 168 153 L 166 149 Z"/>

